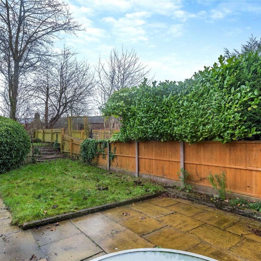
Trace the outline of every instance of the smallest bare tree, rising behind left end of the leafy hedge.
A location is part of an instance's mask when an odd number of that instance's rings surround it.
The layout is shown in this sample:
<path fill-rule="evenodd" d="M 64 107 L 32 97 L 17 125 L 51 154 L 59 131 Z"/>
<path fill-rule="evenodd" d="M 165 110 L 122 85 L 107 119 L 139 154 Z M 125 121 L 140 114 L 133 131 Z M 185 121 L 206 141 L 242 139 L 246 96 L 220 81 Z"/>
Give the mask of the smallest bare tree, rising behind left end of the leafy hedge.
<path fill-rule="evenodd" d="M 105 63 L 99 57 L 95 70 L 100 105 L 103 105 L 114 91 L 137 85 L 150 73 L 147 65 L 140 62 L 135 50 L 124 50 L 123 46 L 120 52 L 116 48 L 112 49 Z"/>

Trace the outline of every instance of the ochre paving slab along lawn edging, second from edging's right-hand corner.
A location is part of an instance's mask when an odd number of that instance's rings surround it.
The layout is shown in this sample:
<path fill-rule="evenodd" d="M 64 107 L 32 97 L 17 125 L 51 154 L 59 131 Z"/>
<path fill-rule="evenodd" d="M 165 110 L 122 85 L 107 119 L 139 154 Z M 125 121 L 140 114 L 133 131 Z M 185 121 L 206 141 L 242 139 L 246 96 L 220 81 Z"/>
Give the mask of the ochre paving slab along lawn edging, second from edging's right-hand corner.
<path fill-rule="evenodd" d="M 173 211 L 168 208 L 163 208 L 149 202 L 138 202 L 133 205 L 129 205 L 130 208 L 135 211 L 142 212 L 143 214 L 151 217 L 151 218 L 159 218 L 165 216 L 167 214 L 172 213 Z"/>

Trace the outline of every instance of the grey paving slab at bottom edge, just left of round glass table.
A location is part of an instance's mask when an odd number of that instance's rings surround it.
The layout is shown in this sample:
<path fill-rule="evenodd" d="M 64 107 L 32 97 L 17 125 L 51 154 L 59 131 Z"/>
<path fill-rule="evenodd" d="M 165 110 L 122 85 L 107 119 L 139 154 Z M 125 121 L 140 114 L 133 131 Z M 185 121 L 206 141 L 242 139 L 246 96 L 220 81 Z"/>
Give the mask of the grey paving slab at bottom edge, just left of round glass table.
<path fill-rule="evenodd" d="M 40 249 L 48 256 L 48 261 L 79 261 L 102 252 L 101 248 L 83 233 L 43 245 Z"/>

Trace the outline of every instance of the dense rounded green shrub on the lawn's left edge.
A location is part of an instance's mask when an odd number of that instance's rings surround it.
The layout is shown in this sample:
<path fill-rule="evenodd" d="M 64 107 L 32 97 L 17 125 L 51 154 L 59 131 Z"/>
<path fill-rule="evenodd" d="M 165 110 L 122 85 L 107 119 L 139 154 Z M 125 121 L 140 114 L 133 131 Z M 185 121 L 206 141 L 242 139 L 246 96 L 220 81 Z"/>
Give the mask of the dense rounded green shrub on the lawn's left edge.
<path fill-rule="evenodd" d="M 21 124 L 0 116 L 0 173 L 21 165 L 30 151 L 30 142 Z"/>

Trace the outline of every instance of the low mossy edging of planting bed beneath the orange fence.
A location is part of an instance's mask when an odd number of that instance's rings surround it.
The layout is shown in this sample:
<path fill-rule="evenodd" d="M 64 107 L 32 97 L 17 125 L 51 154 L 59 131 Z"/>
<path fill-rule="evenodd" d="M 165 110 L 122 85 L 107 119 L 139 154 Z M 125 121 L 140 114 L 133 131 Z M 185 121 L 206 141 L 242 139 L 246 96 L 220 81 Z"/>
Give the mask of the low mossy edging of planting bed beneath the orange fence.
<path fill-rule="evenodd" d="M 174 188 L 168 188 L 168 192 L 170 194 L 175 195 L 177 198 L 186 199 L 189 201 L 193 201 L 195 203 L 205 205 L 212 208 L 217 208 L 226 212 L 230 212 L 233 214 L 237 214 L 243 217 L 252 218 L 257 221 L 261 221 L 261 212 L 248 210 L 248 209 L 240 209 L 235 206 L 230 206 L 228 203 L 223 201 L 212 201 L 210 199 L 201 199 L 200 196 L 192 195 L 191 193 L 183 192 L 176 190 Z"/>

